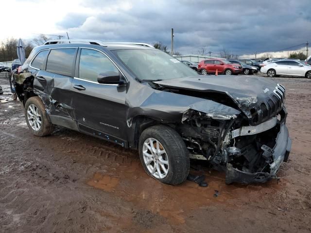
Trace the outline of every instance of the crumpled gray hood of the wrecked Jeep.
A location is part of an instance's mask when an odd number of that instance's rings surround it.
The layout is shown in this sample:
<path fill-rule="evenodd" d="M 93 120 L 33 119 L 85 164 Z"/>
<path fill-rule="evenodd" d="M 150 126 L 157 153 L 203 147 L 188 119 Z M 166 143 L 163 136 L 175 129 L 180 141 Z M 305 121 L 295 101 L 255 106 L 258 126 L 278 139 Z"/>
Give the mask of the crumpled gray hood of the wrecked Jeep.
<path fill-rule="evenodd" d="M 269 95 L 276 88 L 276 82 L 272 80 L 249 75 L 196 75 L 154 83 L 164 87 L 197 92 L 225 93 L 248 117 L 250 117 L 250 108 L 256 103 L 269 98 Z"/>

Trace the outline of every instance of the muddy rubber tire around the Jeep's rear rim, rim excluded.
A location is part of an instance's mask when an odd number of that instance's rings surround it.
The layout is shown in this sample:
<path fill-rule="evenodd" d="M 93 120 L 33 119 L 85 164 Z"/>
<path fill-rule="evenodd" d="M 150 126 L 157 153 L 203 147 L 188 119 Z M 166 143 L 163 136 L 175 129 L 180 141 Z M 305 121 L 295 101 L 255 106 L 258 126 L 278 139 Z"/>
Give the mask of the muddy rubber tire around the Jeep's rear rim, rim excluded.
<path fill-rule="evenodd" d="M 27 110 L 29 108 L 29 105 L 31 104 L 35 105 L 40 114 L 41 126 L 38 130 L 34 130 L 32 128 L 28 119 Z M 46 135 L 50 135 L 54 131 L 54 125 L 51 123 L 50 117 L 48 116 L 45 110 L 45 105 L 43 104 L 42 100 L 39 97 L 34 96 L 26 101 L 24 113 L 27 126 L 35 136 L 43 137 Z"/>

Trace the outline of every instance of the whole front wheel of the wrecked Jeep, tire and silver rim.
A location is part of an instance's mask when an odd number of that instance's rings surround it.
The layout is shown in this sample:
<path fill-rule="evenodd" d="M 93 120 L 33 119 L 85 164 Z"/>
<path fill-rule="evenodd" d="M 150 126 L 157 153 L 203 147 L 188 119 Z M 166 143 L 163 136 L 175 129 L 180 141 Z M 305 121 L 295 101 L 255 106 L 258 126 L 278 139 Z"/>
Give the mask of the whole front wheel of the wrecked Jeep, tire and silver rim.
<path fill-rule="evenodd" d="M 147 174 L 156 180 L 177 185 L 189 174 L 189 151 L 181 136 L 172 128 L 156 125 L 139 137 L 139 157 Z"/>

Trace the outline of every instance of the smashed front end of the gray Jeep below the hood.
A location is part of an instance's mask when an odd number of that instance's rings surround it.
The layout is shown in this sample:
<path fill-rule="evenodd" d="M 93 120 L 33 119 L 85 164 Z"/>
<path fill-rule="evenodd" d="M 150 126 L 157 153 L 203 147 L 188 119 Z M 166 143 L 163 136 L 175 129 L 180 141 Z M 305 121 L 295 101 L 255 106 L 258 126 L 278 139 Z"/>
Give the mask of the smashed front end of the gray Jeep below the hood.
<path fill-rule="evenodd" d="M 190 109 L 183 115 L 179 133 L 190 158 L 207 160 L 226 172 L 229 183 L 264 183 L 276 173 L 291 150 L 286 108 L 256 126 L 242 115 L 220 115 Z"/>

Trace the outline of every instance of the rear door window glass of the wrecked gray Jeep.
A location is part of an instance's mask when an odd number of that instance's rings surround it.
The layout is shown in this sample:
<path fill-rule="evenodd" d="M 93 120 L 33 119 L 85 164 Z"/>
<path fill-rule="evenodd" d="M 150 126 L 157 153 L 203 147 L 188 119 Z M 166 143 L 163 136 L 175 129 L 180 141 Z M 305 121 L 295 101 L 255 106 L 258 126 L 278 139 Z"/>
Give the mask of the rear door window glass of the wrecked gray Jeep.
<path fill-rule="evenodd" d="M 76 49 L 53 49 L 51 50 L 46 70 L 52 73 L 72 76 Z"/>

